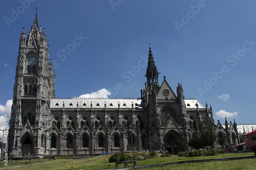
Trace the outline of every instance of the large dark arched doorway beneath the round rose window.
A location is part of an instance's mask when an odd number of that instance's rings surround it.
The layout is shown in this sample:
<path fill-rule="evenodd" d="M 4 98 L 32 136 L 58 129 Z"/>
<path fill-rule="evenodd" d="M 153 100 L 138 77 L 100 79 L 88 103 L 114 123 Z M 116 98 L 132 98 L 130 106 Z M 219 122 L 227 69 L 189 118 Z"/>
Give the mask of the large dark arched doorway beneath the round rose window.
<path fill-rule="evenodd" d="M 164 136 L 165 150 L 170 154 L 177 155 L 180 151 L 184 151 L 184 141 L 181 135 L 172 130 Z"/>

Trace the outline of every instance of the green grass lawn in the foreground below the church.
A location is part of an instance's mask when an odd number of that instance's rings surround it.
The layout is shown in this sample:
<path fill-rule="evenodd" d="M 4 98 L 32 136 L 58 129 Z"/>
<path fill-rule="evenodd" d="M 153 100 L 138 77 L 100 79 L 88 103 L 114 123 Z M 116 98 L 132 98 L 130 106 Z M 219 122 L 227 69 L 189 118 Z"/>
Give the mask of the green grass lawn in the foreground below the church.
<path fill-rule="evenodd" d="M 223 154 L 223 155 L 216 155 L 216 156 L 203 156 L 203 157 L 178 157 L 177 155 L 173 155 L 172 157 L 160 157 L 160 154 L 154 159 L 147 159 L 142 161 L 137 161 L 137 166 L 142 165 L 152 165 L 152 164 L 161 164 L 161 163 L 168 163 L 168 162 L 177 162 L 177 161 L 184 161 L 184 160 L 196 160 L 196 159 L 214 159 L 214 158 L 224 158 L 224 157 L 236 157 L 236 156 L 251 156 L 254 153 L 234 153 L 234 154 Z M 32 159 L 31 163 L 26 163 L 26 160 L 13 160 L 8 161 L 8 169 L 110 169 L 115 168 L 115 163 L 109 163 L 110 155 L 102 155 L 97 157 L 89 157 L 89 158 L 81 158 L 77 160 L 71 159 Z M 12 163 L 15 162 L 14 165 Z M 234 162 L 234 163 L 232 163 Z M 179 165 L 172 165 L 172 169 L 175 167 L 176 169 L 221 169 L 222 167 L 232 167 L 235 165 L 236 168 L 233 169 L 255 169 L 255 162 L 256 159 L 248 159 L 248 160 L 236 160 L 236 161 L 220 161 L 220 162 L 205 162 L 205 163 L 186 163 L 186 164 L 179 164 Z M 253 164 L 253 168 L 250 168 L 247 164 Z M 132 164 L 129 164 L 132 166 Z M 2 161 L 0 163 L 1 167 L 7 167 L 4 165 Z M 123 167 L 123 165 L 119 165 L 119 167 Z M 197 168 L 196 168 L 197 167 Z M 156 167 L 152 169 L 169 169 L 170 166 L 164 167 Z"/>

